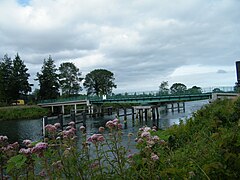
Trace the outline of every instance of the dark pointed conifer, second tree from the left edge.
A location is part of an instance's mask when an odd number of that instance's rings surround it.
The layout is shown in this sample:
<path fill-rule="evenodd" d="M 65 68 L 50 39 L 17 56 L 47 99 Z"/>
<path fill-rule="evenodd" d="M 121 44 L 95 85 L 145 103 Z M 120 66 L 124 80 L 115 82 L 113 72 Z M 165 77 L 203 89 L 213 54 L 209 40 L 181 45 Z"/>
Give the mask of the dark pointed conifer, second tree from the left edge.
<path fill-rule="evenodd" d="M 31 91 L 31 86 L 28 82 L 30 74 L 27 73 L 28 68 L 17 54 L 13 60 L 13 68 L 11 75 L 11 94 L 14 100 L 26 95 Z"/>

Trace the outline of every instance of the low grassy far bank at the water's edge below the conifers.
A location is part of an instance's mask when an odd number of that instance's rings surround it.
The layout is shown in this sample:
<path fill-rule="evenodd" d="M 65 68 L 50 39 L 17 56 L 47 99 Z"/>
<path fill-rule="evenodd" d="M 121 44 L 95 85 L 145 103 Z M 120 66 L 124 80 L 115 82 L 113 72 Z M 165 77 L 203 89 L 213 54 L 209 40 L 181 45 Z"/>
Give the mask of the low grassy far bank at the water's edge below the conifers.
<path fill-rule="evenodd" d="M 39 106 L 9 106 L 0 108 L 0 121 L 36 119 L 44 115 L 48 115 L 48 110 Z"/>

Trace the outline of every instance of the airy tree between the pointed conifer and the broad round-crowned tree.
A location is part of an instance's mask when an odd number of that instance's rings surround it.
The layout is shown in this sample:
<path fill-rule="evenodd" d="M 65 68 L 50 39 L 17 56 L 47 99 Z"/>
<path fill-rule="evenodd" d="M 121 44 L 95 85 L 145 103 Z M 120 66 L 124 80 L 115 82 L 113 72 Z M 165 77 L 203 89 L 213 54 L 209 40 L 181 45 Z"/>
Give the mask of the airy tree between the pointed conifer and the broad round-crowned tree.
<path fill-rule="evenodd" d="M 79 72 L 79 69 L 73 63 L 66 62 L 60 64 L 59 71 L 59 82 L 63 95 L 78 94 L 82 90 L 80 83 L 83 80 L 80 77 L 82 73 Z"/>

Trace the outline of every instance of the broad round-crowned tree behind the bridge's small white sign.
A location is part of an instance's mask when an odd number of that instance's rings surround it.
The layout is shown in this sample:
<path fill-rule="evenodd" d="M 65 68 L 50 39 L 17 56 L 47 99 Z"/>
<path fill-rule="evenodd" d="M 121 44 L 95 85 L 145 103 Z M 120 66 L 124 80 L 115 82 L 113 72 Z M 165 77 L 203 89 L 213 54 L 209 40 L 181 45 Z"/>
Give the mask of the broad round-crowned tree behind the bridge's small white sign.
<path fill-rule="evenodd" d="M 88 95 L 109 95 L 112 89 L 117 87 L 113 82 L 114 80 L 112 72 L 105 69 L 95 69 L 86 75 L 83 86 L 87 89 Z"/>

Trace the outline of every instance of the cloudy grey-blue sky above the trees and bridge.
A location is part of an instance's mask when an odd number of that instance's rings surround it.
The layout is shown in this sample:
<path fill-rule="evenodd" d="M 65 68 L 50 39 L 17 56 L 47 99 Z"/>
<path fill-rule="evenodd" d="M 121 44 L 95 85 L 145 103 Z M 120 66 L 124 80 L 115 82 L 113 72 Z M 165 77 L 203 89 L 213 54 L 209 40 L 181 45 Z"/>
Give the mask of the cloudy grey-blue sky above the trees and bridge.
<path fill-rule="evenodd" d="M 0 58 L 19 53 L 34 88 L 49 55 L 85 77 L 114 73 L 114 92 L 163 81 L 234 86 L 240 0 L 0 0 Z"/>

